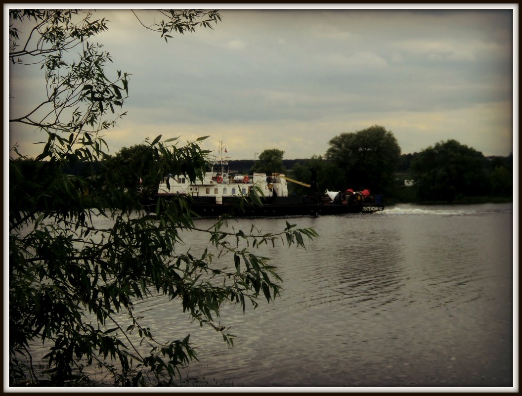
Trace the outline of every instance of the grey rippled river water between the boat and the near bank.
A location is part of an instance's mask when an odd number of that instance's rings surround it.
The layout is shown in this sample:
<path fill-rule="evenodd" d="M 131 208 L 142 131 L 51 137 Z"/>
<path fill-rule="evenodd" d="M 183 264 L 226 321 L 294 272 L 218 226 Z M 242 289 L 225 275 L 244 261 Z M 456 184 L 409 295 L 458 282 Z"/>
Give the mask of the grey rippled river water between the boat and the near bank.
<path fill-rule="evenodd" d="M 270 232 L 287 220 L 255 224 Z M 251 222 L 234 226 L 250 230 Z M 262 250 L 284 289 L 245 315 L 223 309 L 221 322 L 238 335 L 232 349 L 216 332 L 180 326 L 179 309 L 166 301 L 140 308 L 167 338 L 192 333 L 194 386 L 517 385 L 512 205 L 399 205 L 290 222 L 321 237 L 307 250 Z M 515 362 L 518 372 L 518 354 Z"/>

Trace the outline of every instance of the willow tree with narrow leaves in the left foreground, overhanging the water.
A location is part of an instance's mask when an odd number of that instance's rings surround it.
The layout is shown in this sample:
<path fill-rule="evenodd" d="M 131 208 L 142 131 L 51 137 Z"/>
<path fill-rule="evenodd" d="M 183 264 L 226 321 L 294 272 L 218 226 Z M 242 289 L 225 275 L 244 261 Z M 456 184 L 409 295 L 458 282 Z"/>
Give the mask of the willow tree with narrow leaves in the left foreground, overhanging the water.
<path fill-rule="evenodd" d="M 163 21 L 149 28 L 165 40 L 171 32 L 194 31 L 220 19 L 217 11 L 158 12 Z M 288 223 L 271 235 L 254 227 L 243 232 L 226 219 L 199 229 L 184 197 L 160 199 L 156 213 L 141 211 L 139 197 L 115 176 L 125 164 L 100 166 L 106 155 L 100 133 L 123 115 L 116 110 L 129 86 L 125 73 L 109 77 L 109 54 L 96 43 L 97 33 L 106 29 L 108 22 L 94 19 L 91 11 L 9 10 L 12 67 L 41 67 L 47 85 L 45 100 L 9 120 L 10 128 L 37 128 L 37 139 L 43 140 L 35 163 L 17 147 L 9 158 L 11 385 L 22 380 L 88 384 L 85 366 L 103 368 L 115 385 L 172 385 L 177 369 L 196 351 L 188 335 L 157 339 L 156 329 L 135 314 L 135 303 L 167 296 L 172 309 L 231 344 L 233 336 L 219 323 L 220 307 L 232 303 L 244 309 L 279 293 L 275 267 L 253 249 L 279 238 L 304 246 L 303 235 L 316 236 Z M 158 136 L 139 150 L 156 162 L 156 182 L 166 172 L 195 181 L 208 155 L 200 148 L 203 139 L 179 147 L 172 145 L 175 138 Z M 80 163 L 80 172 L 70 172 Z M 196 252 L 183 245 L 185 230 L 206 233 L 208 247 Z M 228 265 L 216 257 L 228 258 Z M 33 369 L 34 343 L 48 352 L 43 373 Z"/>

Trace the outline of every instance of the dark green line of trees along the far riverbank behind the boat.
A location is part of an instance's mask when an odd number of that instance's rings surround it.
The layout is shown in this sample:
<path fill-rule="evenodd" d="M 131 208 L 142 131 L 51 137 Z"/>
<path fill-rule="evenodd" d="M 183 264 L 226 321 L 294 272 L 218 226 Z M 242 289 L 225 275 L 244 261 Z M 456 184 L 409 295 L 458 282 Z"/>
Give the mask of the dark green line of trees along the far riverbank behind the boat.
<path fill-rule="evenodd" d="M 397 139 L 382 126 L 343 133 L 329 141 L 322 155 L 309 159 L 283 159 L 284 151 L 266 149 L 253 160 L 229 160 L 231 173 L 284 173 L 303 183 L 317 175 L 319 191 L 362 190 L 383 194 L 388 202 L 455 202 L 513 197 L 513 155 L 484 155 L 454 139 L 441 141 L 420 152 L 401 154 Z M 156 188 L 158 168 L 155 156 L 145 145 L 123 147 L 106 155 L 99 166 L 112 169 L 111 178 L 122 188 Z M 174 166 L 175 164 L 173 164 Z M 25 167 L 32 167 L 25 160 Z M 42 166 L 40 163 L 39 166 Z M 162 169 L 168 165 L 163 164 Z M 178 166 L 178 165 L 175 165 Z M 171 169 L 176 173 L 181 169 Z M 70 169 L 78 174 L 82 169 Z M 39 172 L 33 172 L 38 174 Z M 31 174 L 31 172 L 26 172 Z M 412 181 L 411 186 L 405 180 Z M 100 181 L 103 184 L 103 181 Z M 291 194 L 306 195 L 306 187 L 289 183 Z"/>

